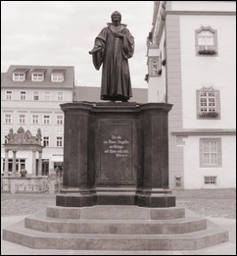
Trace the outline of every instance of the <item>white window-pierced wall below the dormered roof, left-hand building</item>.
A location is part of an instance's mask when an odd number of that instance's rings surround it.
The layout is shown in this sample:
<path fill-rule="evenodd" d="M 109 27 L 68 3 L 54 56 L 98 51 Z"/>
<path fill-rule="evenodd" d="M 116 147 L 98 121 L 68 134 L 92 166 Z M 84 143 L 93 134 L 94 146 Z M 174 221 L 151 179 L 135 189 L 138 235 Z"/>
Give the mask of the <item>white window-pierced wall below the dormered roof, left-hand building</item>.
<path fill-rule="evenodd" d="M 11 90 L 12 100 L 6 100 L 6 91 Z M 43 136 L 49 136 L 50 147 L 44 148 L 42 158 L 51 159 L 53 154 L 63 154 L 63 147 L 56 147 L 57 136 L 64 137 L 64 125 L 56 124 L 56 116 L 63 115 L 64 113 L 60 108 L 60 104 L 65 102 L 71 102 L 72 100 L 72 91 L 71 89 L 35 89 L 40 92 L 41 100 L 33 101 L 33 90 L 29 88 L 23 89 L 1 89 L 1 142 L 4 143 L 4 136 L 8 134 L 9 129 L 13 128 L 14 132 L 17 132 L 18 128 L 23 127 L 24 130 L 29 129 L 33 136 L 36 135 L 37 128 L 41 129 L 41 134 Z M 26 91 L 26 100 L 20 100 L 21 91 Z M 51 100 L 44 100 L 44 92 L 51 92 Z M 64 101 L 57 100 L 57 92 L 64 92 Z M 12 124 L 5 124 L 5 113 L 12 114 Z M 25 114 L 26 122 L 24 125 L 19 124 L 19 115 Z M 32 114 L 39 115 L 39 124 L 32 124 Z M 51 122 L 50 125 L 43 125 L 43 115 L 50 115 Z M 63 119 L 64 120 L 64 119 Z M 41 142 L 43 145 L 43 141 Z M 64 143 L 64 140 L 63 140 Z M 4 158 L 5 152 L 2 149 L 2 159 Z M 12 158 L 12 153 L 10 152 L 10 158 Z M 31 174 L 32 170 L 32 153 L 30 151 L 20 151 L 17 153 L 17 158 L 25 158 L 25 168 L 28 174 Z M 38 154 L 36 154 L 38 158 Z M 53 162 L 50 161 L 50 169 L 53 169 Z M 3 165 L 1 164 L 1 171 L 3 172 Z"/>

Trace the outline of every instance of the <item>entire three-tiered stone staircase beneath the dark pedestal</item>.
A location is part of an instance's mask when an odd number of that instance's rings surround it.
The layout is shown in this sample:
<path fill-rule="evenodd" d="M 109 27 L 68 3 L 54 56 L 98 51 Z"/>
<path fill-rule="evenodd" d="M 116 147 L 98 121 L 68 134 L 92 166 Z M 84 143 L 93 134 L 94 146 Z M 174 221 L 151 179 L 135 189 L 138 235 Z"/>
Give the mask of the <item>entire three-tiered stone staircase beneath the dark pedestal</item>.
<path fill-rule="evenodd" d="M 228 241 L 228 232 L 179 207 L 52 206 L 3 239 L 34 249 L 197 250 Z"/>

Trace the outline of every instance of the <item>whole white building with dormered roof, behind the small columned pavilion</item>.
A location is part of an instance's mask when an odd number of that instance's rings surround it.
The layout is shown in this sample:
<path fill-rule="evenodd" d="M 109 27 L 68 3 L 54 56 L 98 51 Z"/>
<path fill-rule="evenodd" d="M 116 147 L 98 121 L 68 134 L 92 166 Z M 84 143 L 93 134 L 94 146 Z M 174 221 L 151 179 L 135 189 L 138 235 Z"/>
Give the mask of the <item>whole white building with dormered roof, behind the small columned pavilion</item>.
<path fill-rule="evenodd" d="M 1 173 L 4 173 L 3 144 L 10 128 L 20 127 L 35 136 L 41 129 L 42 175 L 63 166 L 64 114 L 60 104 L 71 102 L 74 88 L 73 67 L 11 65 L 1 80 Z M 36 162 L 38 156 L 36 155 Z M 13 153 L 9 152 L 9 174 L 13 170 Z M 37 166 L 37 165 L 36 165 Z M 32 170 L 32 152 L 17 152 L 17 173 Z M 37 170 L 36 170 L 37 173 Z"/>

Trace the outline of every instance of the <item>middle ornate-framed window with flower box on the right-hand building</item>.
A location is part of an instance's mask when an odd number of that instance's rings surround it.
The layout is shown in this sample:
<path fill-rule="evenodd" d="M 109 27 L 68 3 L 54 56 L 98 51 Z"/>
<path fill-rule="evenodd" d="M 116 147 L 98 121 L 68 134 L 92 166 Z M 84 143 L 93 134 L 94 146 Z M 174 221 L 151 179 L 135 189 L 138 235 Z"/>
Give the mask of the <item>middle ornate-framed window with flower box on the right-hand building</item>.
<path fill-rule="evenodd" d="M 197 118 L 220 119 L 219 90 L 203 87 L 197 90 Z"/>

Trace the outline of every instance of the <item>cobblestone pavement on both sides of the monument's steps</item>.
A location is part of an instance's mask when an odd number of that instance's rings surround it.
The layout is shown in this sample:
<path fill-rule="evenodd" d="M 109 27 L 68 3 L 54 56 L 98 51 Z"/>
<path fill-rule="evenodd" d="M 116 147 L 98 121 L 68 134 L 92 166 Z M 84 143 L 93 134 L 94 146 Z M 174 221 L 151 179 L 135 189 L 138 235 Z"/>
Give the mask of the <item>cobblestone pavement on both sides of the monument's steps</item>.
<path fill-rule="evenodd" d="M 236 219 L 236 189 L 173 190 L 176 205 L 202 216 Z M 1 194 L 1 216 L 28 215 L 55 205 L 55 195 Z"/>

